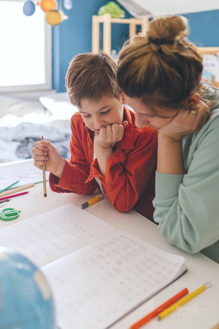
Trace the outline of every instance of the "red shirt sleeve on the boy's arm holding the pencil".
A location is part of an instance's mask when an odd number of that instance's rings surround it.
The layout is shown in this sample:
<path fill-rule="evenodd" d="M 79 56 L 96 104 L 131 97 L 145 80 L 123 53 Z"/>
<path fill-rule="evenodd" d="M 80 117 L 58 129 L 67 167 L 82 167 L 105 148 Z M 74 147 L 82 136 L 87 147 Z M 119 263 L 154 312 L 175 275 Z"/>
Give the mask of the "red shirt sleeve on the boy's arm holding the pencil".
<path fill-rule="evenodd" d="M 76 120 L 78 120 L 77 115 L 73 115 L 71 120 L 72 134 L 70 140 L 70 161 L 65 160 L 65 167 L 60 179 L 50 173 L 50 188 L 58 193 L 75 192 L 77 194 L 91 194 L 99 187 L 99 185 L 95 179 L 85 183 L 90 174 L 89 154 L 85 154 L 83 147 L 83 142 L 85 140 L 86 143 L 84 144 L 87 145 L 87 132 L 84 134 L 81 132 L 84 127 L 80 124 L 80 134 L 77 134 L 78 124 Z M 80 136 L 80 138 L 78 136 Z M 93 149 L 90 151 L 92 153 Z"/>

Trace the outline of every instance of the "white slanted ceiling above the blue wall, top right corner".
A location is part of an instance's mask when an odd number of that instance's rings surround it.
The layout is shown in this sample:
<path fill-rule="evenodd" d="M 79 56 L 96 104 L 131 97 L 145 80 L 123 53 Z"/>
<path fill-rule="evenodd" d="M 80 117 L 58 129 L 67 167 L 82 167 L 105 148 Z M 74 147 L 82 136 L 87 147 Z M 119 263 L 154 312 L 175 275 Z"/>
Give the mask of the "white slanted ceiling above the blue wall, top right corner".
<path fill-rule="evenodd" d="M 132 16 L 163 16 L 219 9 L 219 0 L 117 0 Z"/>

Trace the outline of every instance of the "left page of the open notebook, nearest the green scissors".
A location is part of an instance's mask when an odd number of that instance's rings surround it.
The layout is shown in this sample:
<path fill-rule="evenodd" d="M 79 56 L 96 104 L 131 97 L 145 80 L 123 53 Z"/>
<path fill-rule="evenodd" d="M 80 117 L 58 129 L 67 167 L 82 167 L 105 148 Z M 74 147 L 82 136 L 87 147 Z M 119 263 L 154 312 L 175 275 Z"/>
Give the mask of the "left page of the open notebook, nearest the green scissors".
<path fill-rule="evenodd" d="M 43 266 L 115 231 L 96 216 L 67 204 L 0 229 L 0 245 Z"/>

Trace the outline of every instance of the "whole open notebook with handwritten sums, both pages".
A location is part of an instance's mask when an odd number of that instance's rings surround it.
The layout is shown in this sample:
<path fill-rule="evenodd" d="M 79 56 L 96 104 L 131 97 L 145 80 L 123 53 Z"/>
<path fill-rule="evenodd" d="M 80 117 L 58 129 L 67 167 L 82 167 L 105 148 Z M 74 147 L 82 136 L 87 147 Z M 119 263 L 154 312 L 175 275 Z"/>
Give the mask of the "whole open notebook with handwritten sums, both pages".
<path fill-rule="evenodd" d="M 103 329 L 186 271 L 166 253 L 68 204 L 0 230 L 48 278 L 61 329 Z"/>

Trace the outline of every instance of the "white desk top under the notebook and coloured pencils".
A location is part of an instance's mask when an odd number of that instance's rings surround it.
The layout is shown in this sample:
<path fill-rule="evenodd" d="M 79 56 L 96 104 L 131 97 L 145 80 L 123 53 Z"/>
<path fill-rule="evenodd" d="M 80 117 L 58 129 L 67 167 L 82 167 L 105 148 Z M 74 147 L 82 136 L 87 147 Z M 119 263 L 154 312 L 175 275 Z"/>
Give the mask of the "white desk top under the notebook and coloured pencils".
<path fill-rule="evenodd" d="M 21 214 L 13 221 L 0 221 L 0 228 L 43 214 L 67 203 L 79 206 L 81 203 L 91 198 L 91 196 L 77 195 L 74 193 L 54 193 L 50 190 L 48 182 L 46 198 L 44 198 L 42 183 L 36 184 L 29 190 L 31 191 L 29 194 L 13 198 L 10 203 L 5 206 L 6 208 L 10 205 L 10 207 L 21 210 Z M 188 270 L 181 278 L 114 324 L 111 327 L 112 329 L 127 329 L 130 325 L 157 308 L 178 291 L 188 288 L 189 292 L 192 292 L 208 281 L 211 282 L 212 287 L 186 303 L 179 312 L 171 314 L 159 322 L 154 318 L 143 326 L 142 329 L 210 329 L 219 322 L 218 264 L 201 253 L 190 255 L 170 245 L 161 236 L 157 225 L 135 211 L 130 211 L 129 213 L 117 212 L 107 199 L 93 204 L 84 211 L 99 217 L 118 230 L 130 232 L 160 249 L 184 256 L 186 259 L 186 267 Z"/>

